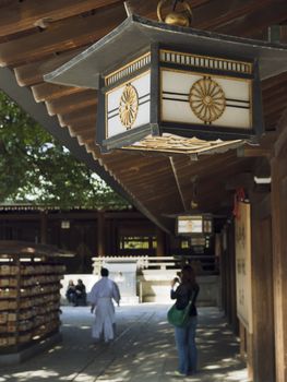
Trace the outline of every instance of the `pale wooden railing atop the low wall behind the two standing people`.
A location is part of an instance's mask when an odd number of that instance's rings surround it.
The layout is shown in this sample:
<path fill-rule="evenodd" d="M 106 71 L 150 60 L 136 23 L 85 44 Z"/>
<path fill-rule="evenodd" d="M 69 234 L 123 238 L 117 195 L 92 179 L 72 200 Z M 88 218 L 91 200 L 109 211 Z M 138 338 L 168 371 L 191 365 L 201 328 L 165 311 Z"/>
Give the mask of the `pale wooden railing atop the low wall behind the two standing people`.
<path fill-rule="evenodd" d="M 93 258 L 94 273 L 99 274 L 105 263 L 136 263 L 137 273 L 144 270 L 180 270 L 184 264 L 191 264 L 196 275 L 213 275 L 219 273 L 219 261 L 215 255 L 192 256 L 98 256 Z"/>

